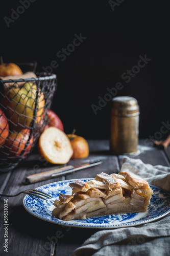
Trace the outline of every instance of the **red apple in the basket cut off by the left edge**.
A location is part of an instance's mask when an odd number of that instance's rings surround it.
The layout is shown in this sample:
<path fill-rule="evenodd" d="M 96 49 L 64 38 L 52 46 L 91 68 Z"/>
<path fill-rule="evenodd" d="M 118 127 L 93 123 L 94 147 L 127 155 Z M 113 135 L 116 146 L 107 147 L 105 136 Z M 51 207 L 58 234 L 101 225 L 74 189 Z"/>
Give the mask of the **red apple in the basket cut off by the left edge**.
<path fill-rule="evenodd" d="M 0 148 L 5 143 L 6 138 L 9 134 L 9 124 L 6 115 L 0 109 Z"/>

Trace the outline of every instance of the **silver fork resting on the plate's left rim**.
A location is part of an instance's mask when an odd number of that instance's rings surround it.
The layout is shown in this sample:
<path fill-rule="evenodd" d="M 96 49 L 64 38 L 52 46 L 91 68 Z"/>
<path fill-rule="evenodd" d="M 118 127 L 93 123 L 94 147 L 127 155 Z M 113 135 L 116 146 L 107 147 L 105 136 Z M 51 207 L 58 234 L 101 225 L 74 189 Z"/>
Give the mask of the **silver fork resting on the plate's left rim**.
<path fill-rule="evenodd" d="M 20 195 L 21 193 L 23 194 L 27 194 L 29 196 L 35 196 L 35 197 L 38 197 L 38 198 L 41 198 L 43 200 L 48 200 L 50 198 L 53 198 L 52 196 L 46 194 L 45 192 L 43 191 L 40 191 L 40 190 L 37 190 L 37 189 L 27 189 L 27 190 L 23 190 L 21 192 L 19 192 L 18 194 L 16 195 L 5 195 L 5 194 L 0 194 L 0 196 L 2 197 L 16 197 L 18 195 Z"/>

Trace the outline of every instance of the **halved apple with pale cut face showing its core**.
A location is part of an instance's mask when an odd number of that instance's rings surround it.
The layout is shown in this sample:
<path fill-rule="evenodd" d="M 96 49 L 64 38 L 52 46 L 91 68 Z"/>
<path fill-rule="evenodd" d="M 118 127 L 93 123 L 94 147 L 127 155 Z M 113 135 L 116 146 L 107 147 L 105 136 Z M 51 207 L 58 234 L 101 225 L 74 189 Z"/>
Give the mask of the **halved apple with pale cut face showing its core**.
<path fill-rule="evenodd" d="M 40 155 L 50 163 L 67 163 L 73 150 L 67 135 L 57 127 L 48 127 L 40 135 L 38 142 Z"/>

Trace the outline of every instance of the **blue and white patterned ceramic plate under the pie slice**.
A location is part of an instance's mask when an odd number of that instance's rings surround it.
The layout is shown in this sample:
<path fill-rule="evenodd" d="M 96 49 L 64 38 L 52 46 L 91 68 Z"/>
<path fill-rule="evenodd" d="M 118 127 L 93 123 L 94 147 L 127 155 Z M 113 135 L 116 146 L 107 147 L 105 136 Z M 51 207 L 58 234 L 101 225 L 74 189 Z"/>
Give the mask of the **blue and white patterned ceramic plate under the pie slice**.
<path fill-rule="evenodd" d="M 90 179 L 81 180 L 86 182 Z M 69 187 L 69 183 L 71 181 L 72 180 L 64 180 L 38 187 L 37 189 L 50 194 L 53 199 L 45 201 L 27 195 L 23 199 L 23 206 L 33 216 L 54 224 L 102 229 L 141 225 L 160 219 L 170 212 L 170 195 L 160 188 L 150 185 L 154 194 L 152 195 L 151 203 L 149 205 L 148 211 L 146 212 L 108 215 L 102 217 L 87 218 L 86 220 L 62 221 L 52 217 L 52 202 L 54 199 L 59 199 L 60 193 L 71 195 L 71 188 Z"/>

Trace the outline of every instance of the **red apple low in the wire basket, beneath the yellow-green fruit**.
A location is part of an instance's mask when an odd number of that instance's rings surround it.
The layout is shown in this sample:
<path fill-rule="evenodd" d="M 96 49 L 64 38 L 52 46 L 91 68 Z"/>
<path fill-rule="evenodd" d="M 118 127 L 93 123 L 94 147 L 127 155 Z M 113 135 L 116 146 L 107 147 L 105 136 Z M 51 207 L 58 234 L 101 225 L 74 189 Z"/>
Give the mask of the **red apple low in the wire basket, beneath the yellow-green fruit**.
<path fill-rule="evenodd" d="M 29 129 L 22 129 L 20 132 L 12 131 L 12 133 L 9 135 L 8 139 L 4 144 L 5 151 L 8 152 L 10 157 L 15 159 L 18 156 L 20 156 L 22 150 L 25 148 L 25 145 L 29 139 L 29 135 Z M 34 139 L 32 136 L 22 157 L 25 157 L 29 153 L 33 145 L 33 140 Z"/>

